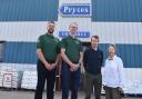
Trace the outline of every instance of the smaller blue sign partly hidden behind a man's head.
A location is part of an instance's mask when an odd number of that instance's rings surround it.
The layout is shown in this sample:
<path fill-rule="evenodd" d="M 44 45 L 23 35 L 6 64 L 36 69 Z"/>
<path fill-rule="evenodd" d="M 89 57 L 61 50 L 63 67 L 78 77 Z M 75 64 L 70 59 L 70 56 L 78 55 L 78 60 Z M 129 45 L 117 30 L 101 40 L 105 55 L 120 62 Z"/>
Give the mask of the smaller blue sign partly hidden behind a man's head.
<path fill-rule="evenodd" d="M 59 31 L 59 37 L 67 37 L 69 36 L 69 31 Z M 78 38 L 90 38 L 90 32 L 89 31 L 78 31 L 77 32 Z"/>

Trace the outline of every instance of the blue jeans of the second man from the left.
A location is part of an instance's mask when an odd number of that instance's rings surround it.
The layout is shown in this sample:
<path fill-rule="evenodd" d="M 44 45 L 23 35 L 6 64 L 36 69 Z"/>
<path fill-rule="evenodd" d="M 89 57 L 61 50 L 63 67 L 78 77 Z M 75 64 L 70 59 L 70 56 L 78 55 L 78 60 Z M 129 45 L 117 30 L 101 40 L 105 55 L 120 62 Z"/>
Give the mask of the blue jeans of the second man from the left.
<path fill-rule="evenodd" d="M 78 99 L 80 88 L 80 68 L 77 71 L 70 71 L 70 66 L 62 63 L 62 99 L 68 99 L 71 87 L 71 99 Z"/>

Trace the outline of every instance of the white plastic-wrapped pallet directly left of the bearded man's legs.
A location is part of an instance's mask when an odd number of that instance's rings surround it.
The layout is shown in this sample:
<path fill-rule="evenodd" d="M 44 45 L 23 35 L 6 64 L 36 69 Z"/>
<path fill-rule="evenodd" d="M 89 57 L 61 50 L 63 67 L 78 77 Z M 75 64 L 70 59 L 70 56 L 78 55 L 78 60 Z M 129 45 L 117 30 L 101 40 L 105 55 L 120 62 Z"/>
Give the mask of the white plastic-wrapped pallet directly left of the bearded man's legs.
<path fill-rule="evenodd" d="M 37 80 L 37 71 L 24 71 L 21 88 L 34 90 Z"/>

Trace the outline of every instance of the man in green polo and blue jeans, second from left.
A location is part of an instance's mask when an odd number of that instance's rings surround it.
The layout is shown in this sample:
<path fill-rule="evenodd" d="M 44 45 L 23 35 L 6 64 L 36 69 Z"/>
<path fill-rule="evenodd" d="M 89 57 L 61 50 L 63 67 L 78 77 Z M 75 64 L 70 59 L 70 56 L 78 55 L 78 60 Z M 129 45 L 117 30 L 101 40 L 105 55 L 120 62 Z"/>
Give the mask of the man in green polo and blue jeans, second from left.
<path fill-rule="evenodd" d="M 71 99 L 78 98 L 80 87 L 80 66 L 82 62 L 82 43 L 75 38 L 78 24 L 72 22 L 69 27 L 70 36 L 61 40 L 62 62 L 62 99 L 68 99 L 71 85 Z M 72 82 L 72 83 L 71 83 Z"/>

